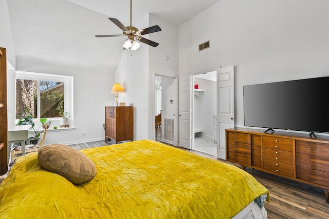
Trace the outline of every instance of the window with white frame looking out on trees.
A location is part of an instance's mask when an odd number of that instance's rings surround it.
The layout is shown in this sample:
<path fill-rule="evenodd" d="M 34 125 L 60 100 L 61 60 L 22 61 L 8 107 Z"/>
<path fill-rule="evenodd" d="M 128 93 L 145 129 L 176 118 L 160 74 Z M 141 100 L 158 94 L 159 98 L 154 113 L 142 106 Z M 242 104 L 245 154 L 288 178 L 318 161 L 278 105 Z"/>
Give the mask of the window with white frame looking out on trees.
<path fill-rule="evenodd" d="M 72 115 L 73 77 L 16 71 L 16 119 L 25 113 L 34 118 Z"/>

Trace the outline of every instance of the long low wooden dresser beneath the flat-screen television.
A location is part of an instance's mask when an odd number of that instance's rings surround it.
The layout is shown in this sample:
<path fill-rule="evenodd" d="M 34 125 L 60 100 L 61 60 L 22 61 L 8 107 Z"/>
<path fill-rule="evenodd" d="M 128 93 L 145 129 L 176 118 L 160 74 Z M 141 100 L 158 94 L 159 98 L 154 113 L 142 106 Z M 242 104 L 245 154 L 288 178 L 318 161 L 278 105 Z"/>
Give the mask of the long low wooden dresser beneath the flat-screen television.
<path fill-rule="evenodd" d="M 226 160 L 320 187 L 329 203 L 329 136 L 226 129 Z"/>

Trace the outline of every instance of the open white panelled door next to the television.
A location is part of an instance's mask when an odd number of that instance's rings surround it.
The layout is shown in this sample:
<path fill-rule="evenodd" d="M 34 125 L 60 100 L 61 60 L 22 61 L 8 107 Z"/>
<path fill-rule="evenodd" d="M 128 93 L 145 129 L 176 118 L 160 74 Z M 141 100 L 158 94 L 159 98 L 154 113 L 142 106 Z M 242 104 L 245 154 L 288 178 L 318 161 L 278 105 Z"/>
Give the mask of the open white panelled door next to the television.
<path fill-rule="evenodd" d="M 226 160 L 225 129 L 234 127 L 234 66 L 217 70 L 217 157 Z"/>

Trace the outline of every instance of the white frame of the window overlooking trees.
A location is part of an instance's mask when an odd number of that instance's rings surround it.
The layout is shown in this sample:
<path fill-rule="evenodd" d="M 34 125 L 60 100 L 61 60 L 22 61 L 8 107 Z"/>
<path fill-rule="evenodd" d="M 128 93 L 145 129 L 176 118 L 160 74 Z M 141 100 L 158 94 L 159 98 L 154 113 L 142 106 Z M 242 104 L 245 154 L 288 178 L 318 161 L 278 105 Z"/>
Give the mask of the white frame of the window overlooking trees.
<path fill-rule="evenodd" d="M 40 81 L 53 81 L 64 83 L 64 112 L 69 112 L 71 120 L 73 120 L 73 77 L 57 74 L 36 73 L 27 71 L 16 71 L 15 82 L 17 79 L 37 80 L 38 81 L 38 117 L 40 120 Z M 16 99 L 16 83 L 15 83 L 15 99 Z M 15 101 L 16 105 L 16 101 Z M 16 114 L 16 107 L 15 107 Z M 51 120 L 60 120 L 62 117 L 52 117 Z"/>

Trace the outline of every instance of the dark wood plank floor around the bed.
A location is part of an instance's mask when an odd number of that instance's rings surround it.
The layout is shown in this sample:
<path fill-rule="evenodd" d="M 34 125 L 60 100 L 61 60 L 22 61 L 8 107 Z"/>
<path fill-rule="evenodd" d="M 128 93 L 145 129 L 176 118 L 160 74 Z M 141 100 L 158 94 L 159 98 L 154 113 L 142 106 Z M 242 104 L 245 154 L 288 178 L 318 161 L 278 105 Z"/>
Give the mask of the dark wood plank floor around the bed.
<path fill-rule="evenodd" d="M 84 143 L 83 148 L 88 147 L 88 145 L 97 147 L 105 144 L 102 141 Z M 75 146 L 79 147 L 78 145 Z M 184 148 L 180 149 L 186 150 Z M 230 163 L 202 152 L 191 152 L 221 162 Z M 237 164 L 232 165 L 239 166 Z M 329 218 L 329 204 L 325 202 L 324 191 L 322 189 L 259 170 L 252 170 L 251 168 L 246 168 L 246 171 L 269 190 L 270 203 L 265 203 L 265 209 L 267 210 L 269 219 Z"/>

